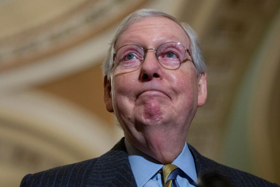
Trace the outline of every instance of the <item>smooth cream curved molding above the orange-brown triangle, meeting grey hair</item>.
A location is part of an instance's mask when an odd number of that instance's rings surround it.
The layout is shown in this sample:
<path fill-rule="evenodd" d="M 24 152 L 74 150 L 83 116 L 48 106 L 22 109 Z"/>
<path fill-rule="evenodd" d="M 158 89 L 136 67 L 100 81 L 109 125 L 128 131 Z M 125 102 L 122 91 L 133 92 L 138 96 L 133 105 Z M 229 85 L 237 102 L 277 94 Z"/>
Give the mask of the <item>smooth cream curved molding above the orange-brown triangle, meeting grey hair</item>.
<path fill-rule="evenodd" d="M 100 63 L 106 55 L 114 29 L 106 30 L 99 37 L 38 60 L 36 63 L 1 72 L 0 94 L 43 84 L 82 70 L 94 63 Z"/>

